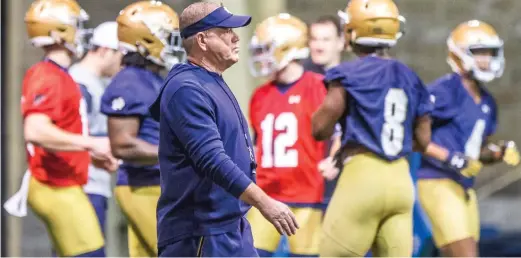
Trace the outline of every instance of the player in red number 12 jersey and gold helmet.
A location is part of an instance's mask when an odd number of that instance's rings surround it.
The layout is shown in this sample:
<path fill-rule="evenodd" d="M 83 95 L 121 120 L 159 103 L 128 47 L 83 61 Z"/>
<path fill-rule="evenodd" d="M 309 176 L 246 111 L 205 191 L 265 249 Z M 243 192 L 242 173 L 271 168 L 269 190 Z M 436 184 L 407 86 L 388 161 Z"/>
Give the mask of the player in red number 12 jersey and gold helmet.
<path fill-rule="evenodd" d="M 298 224 L 288 238 L 292 255 L 318 255 L 324 180 L 319 162 L 327 156 L 325 142 L 311 135 L 311 116 L 326 96 L 323 76 L 304 70 L 300 60 L 309 55 L 308 29 L 287 13 L 257 25 L 250 43 L 251 72 L 269 76 L 250 101 L 259 167 L 257 184 L 274 199 L 288 204 Z M 259 210 L 248 214 L 260 256 L 272 256 L 280 235 Z"/>

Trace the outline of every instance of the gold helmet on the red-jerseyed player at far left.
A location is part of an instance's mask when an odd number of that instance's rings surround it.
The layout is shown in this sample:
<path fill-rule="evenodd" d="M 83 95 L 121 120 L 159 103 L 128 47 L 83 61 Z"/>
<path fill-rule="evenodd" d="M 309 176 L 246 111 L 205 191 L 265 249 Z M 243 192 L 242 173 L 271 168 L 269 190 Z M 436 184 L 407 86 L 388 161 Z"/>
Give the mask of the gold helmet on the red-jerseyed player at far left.
<path fill-rule="evenodd" d="M 88 19 L 87 12 L 75 0 L 37 0 L 25 13 L 31 44 L 63 44 L 77 56 L 84 52 L 83 23 Z"/>

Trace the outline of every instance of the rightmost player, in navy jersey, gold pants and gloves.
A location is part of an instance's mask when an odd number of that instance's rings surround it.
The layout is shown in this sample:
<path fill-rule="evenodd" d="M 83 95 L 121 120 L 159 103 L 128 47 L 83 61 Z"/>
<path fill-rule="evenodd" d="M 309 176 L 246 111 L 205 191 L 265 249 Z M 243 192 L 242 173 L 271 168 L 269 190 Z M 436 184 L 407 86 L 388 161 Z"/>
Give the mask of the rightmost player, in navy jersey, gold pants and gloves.
<path fill-rule="evenodd" d="M 474 176 L 481 163 L 519 163 L 514 142 L 491 142 L 497 106 L 484 84 L 503 73 L 503 40 L 482 21 L 460 24 L 447 40 L 453 73 L 429 85 L 434 100 L 432 141 L 449 164 L 423 158 L 418 190 L 442 256 L 478 256 L 479 216 Z M 477 163 L 469 166 L 468 163 Z"/>

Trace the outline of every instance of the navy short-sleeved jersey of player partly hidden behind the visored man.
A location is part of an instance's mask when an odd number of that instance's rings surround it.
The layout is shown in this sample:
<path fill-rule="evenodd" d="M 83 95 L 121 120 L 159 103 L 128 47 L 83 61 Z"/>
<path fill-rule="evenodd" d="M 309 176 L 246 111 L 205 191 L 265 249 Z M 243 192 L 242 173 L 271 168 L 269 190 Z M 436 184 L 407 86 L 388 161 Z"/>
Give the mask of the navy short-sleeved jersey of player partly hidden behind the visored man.
<path fill-rule="evenodd" d="M 159 123 L 148 112 L 154 102 L 163 79 L 149 70 L 138 67 L 126 67 L 112 79 L 101 99 L 101 112 L 111 116 L 139 117 L 139 139 L 150 144 L 159 144 Z M 118 177 L 128 175 L 131 186 L 159 185 L 159 164 L 142 166 L 123 162 L 119 166 Z M 124 184 L 124 180 L 118 183 Z"/>

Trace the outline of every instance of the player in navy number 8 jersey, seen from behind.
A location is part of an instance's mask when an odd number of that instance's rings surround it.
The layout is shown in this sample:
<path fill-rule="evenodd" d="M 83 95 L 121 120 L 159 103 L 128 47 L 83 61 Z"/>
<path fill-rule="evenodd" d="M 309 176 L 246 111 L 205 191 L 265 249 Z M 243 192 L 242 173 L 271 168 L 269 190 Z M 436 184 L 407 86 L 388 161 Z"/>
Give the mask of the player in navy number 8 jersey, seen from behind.
<path fill-rule="evenodd" d="M 347 49 L 357 58 L 326 71 L 327 96 L 313 115 L 324 140 L 339 122 L 343 171 L 324 216 L 320 256 L 411 256 L 414 185 L 407 155 L 430 142 L 429 94 L 416 73 L 387 51 L 402 36 L 391 0 L 352 0 Z"/>

